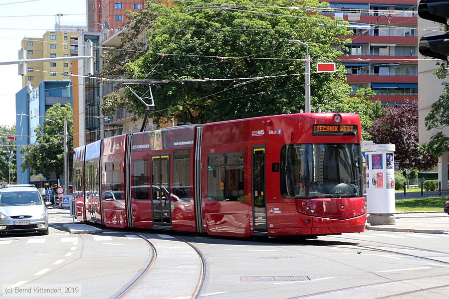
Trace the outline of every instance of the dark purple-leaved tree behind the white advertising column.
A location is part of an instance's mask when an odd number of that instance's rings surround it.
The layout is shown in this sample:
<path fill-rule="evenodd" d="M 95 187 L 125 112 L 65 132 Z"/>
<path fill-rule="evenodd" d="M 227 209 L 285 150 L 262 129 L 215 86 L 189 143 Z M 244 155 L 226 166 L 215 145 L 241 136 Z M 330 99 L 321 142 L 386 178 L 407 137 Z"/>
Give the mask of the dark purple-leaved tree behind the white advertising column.
<path fill-rule="evenodd" d="M 410 105 L 407 105 L 410 104 Z M 376 144 L 395 144 L 395 160 L 401 169 L 432 169 L 438 156 L 420 152 L 418 144 L 418 102 L 386 106 L 384 115 L 369 129 Z"/>

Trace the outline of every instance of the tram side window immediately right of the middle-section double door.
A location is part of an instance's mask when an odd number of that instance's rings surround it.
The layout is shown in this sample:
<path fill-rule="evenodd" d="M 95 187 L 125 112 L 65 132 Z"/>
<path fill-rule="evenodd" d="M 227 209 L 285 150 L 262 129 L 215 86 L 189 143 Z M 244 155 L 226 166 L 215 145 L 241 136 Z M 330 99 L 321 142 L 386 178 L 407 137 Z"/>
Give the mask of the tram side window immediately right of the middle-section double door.
<path fill-rule="evenodd" d="M 190 201 L 190 150 L 173 152 L 173 200 Z"/>

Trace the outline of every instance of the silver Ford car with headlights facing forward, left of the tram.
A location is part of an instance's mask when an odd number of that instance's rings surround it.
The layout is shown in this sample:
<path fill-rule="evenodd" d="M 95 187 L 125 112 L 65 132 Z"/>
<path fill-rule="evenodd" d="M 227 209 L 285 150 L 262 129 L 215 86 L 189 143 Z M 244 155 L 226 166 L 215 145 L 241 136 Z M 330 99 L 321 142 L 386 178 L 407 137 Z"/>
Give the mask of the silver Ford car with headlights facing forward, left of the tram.
<path fill-rule="evenodd" d="M 41 232 L 48 235 L 48 212 L 35 187 L 0 190 L 0 233 Z"/>

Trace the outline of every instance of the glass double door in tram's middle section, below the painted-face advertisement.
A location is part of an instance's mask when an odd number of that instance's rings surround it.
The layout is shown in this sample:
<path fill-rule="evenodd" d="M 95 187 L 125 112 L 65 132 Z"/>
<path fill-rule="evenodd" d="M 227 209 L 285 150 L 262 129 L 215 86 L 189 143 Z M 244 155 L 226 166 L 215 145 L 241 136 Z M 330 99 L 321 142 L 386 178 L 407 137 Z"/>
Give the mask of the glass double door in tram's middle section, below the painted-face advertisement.
<path fill-rule="evenodd" d="M 170 207 L 170 156 L 152 156 L 151 202 L 154 225 L 171 225 Z"/>

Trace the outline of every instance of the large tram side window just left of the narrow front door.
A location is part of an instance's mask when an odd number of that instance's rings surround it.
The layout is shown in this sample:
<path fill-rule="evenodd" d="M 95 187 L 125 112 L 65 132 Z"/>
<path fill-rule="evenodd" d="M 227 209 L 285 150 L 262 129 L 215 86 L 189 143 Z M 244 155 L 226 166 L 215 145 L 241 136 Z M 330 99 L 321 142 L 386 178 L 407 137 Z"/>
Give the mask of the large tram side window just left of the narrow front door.
<path fill-rule="evenodd" d="M 208 199 L 244 201 L 243 154 L 209 156 Z"/>

